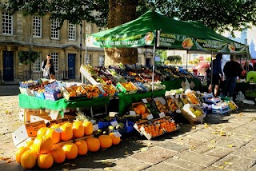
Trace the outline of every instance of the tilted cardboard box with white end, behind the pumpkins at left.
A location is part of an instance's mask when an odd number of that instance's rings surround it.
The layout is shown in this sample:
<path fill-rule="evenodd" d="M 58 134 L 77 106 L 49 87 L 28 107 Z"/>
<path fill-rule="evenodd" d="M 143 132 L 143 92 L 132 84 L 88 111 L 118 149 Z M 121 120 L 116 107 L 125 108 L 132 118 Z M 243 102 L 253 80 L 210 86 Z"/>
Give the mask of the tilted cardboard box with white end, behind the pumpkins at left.
<path fill-rule="evenodd" d="M 36 121 L 34 123 L 27 123 L 19 127 L 12 133 L 14 145 L 20 144 L 22 141 L 26 140 L 28 137 L 37 136 L 38 129 L 46 127 L 45 121 Z"/>

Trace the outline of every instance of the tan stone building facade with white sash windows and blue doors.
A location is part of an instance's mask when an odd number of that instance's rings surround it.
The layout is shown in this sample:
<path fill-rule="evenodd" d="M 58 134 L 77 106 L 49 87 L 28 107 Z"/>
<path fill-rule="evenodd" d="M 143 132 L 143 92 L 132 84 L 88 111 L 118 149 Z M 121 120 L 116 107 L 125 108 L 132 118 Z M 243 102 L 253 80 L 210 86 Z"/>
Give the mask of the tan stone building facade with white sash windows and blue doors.
<path fill-rule="evenodd" d="M 42 78 L 41 63 L 47 54 L 52 56 L 58 80 L 81 79 L 82 64 L 104 65 L 104 50 L 85 45 L 86 34 L 98 32 L 97 26 L 85 21 L 82 25 L 65 21 L 57 30 L 59 22 L 49 18 L 49 15 L 24 17 L 21 12 L 10 15 L 0 10 L 0 82 Z M 22 50 L 38 52 L 38 60 L 27 66 L 20 63 L 18 52 Z M 144 50 L 138 50 L 140 64 L 145 64 L 146 58 L 153 58 L 143 53 Z"/>

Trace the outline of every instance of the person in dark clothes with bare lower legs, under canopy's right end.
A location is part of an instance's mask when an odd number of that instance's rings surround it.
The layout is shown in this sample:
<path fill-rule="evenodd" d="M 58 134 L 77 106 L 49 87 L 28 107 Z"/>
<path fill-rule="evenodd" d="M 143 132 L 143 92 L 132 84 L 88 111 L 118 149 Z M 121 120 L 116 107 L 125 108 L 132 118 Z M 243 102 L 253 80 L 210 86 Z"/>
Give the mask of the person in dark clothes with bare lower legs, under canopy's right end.
<path fill-rule="evenodd" d="M 219 85 L 221 84 L 221 79 L 223 76 L 222 73 L 222 54 L 217 54 L 215 59 L 210 62 L 210 68 L 211 68 L 211 73 L 213 74 L 212 77 L 212 82 L 208 87 L 208 93 L 212 93 L 212 89 L 214 87 L 214 97 L 218 95 L 218 88 Z"/>

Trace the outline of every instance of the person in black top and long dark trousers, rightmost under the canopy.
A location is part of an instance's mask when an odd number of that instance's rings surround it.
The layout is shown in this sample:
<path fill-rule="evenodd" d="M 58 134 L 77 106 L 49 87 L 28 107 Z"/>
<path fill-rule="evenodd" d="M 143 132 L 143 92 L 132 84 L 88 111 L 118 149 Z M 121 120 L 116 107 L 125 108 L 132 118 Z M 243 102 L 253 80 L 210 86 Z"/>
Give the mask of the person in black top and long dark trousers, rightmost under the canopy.
<path fill-rule="evenodd" d="M 230 62 L 226 62 L 223 72 L 226 76 L 223 95 L 233 97 L 237 78 L 241 78 L 242 66 L 235 61 L 234 55 L 230 55 Z"/>

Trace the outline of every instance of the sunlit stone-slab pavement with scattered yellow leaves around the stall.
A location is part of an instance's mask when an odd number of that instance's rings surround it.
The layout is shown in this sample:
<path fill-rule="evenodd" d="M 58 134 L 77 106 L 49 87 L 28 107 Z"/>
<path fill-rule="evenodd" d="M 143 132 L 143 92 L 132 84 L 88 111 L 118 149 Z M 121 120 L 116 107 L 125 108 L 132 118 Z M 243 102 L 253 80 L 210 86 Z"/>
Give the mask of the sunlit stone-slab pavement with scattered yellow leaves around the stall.
<path fill-rule="evenodd" d="M 238 106 L 235 113 L 207 114 L 205 123 L 183 124 L 177 132 L 155 140 L 132 134 L 110 149 L 54 164 L 48 170 L 255 171 L 256 106 Z M 23 170 L 15 161 L 11 137 L 22 125 L 18 109 L 17 94 L 0 96 L 0 170 Z"/>

